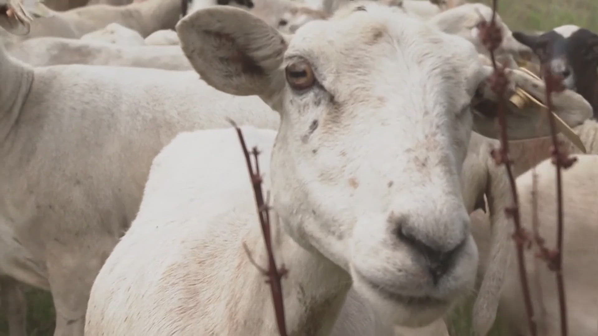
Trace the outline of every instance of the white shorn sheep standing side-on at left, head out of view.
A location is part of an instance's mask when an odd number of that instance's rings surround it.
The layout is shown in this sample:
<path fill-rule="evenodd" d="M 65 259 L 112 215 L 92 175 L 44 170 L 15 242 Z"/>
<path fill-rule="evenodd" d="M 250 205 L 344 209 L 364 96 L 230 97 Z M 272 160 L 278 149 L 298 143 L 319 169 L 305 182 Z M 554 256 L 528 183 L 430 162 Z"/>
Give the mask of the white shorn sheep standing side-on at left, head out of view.
<path fill-rule="evenodd" d="M 135 217 L 152 158 L 176 133 L 233 117 L 279 124 L 258 97 L 222 93 L 193 71 L 32 68 L 0 46 L 0 77 L 0 225 L 20 245 L 2 250 L 0 274 L 51 291 L 56 335 L 83 334 L 93 279 Z"/>

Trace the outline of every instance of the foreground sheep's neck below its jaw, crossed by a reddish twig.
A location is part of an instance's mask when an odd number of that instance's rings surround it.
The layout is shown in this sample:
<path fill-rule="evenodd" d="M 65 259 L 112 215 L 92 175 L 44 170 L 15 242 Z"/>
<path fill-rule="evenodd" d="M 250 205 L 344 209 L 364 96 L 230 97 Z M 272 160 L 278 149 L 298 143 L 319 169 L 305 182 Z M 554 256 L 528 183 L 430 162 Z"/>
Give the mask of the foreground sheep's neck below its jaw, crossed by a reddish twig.
<path fill-rule="evenodd" d="M 260 225 L 255 223 L 254 228 L 245 241 L 252 257 L 258 264 L 266 266 L 267 254 Z M 271 232 L 277 266 L 283 263 L 288 270 L 288 275 L 282 279 L 288 334 L 328 335 L 349 291 L 349 274 L 319 252 L 307 251 L 299 246 L 277 221 L 272 221 Z M 238 329 L 233 327 L 234 330 L 229 329 L 228 332 L 231 335 L 277 335 L 269 285 L 264 283 L 265 277 L 249 262 L 245 253 L 241 258 L 246 269 L 240 274 L 252 274 L 251 277 L 243 277 L 245 300 L 242 301 L 247 304 L 240 304 L 239 297 L 236 297 L 230 301 L 229 307 L 237 310 L 231 311 L 231 316 L 243 316 L 241 320 L 245 323 L 237 324 Z M 246 310 L 240 311 L 243 307 Z M 256 314 L 261 311 L 264 313 Z M 257 320 L 254 321 L 254 318 Z M 249 325 L 254 325 L 255 330 L 246 329 Z"/>

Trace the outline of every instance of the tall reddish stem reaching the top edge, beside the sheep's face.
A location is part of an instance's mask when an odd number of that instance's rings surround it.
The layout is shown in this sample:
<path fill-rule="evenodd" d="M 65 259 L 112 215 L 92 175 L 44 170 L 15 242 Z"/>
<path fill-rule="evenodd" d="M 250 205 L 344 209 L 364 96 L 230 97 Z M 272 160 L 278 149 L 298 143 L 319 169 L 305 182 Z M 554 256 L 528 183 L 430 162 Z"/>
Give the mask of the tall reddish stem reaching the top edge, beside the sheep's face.
<path fill-rule="evenodd" d="M 484 46 L 490 53 L 490 60 L 494 68 L 494 73 L 490 78 L 490 87 L 498 96 L 498 123 L 501 127 L 501 148 L 497 151 L 493 149 L 491 154 L 496 161 L 496 164 L 504 164 L 507 169 L 507 175 L 509 179 L 509 185 L 511 186 L 511 193 L 513 198 L 513 204 L 511 207 L 507 207 L 505 212 L 507 216 L 511 217 L 514 221 L 515 232 L 513 233 L 513 239 L 515 240 L 515 247 L 517 248 L 517 260 L 519 266 L 519 276 L 521 280 L 521 286 L 523 288 L 523 299 L 526 306 L 527 321 L 529 323 L 530 334 L 532 336 L 538 335 L 536 329 L 536 323 L 534 321 L 532 297 L 530 295 L 529 282 L 527 280 L 526 262 L 524 258 L 524 245 L 529 242 L 527 232 L 521 227 L 520 215 L 519 215 L 519 201 L 517 196 L 517 187 L 515 185 L 515 178 L 512 172 L 511 161 L 509 160 L 509 147 L 507 137 L 507 119 L 505 118 L 505 93 L 507 91 L 508 78 L 505 73 L 505 68 L 502 65 L 498 65 L 495 57 L 495 50 L 502 43 L 502 30 L 496 25 L 496 7 L 497 0 L 492 1 L 492 19 L 490 22 L 483 20 L 480 23 L 480 39 Z"/>

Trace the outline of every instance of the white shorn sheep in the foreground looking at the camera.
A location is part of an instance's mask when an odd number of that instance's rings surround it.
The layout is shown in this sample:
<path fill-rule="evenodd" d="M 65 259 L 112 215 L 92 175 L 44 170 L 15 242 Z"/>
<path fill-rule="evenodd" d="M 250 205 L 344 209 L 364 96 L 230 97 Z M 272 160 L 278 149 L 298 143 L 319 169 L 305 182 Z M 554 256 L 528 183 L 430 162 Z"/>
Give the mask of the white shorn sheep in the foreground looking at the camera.
<path fill-rule="evenodd" d="M 288 38 L 231 7 L 177 25 L 206 83 L 280 113 L 260 160 L 290 334 L 329 332 L 351 283 L 383 320 L 426 325 L 477 268 L 459 173 L 472 122 L 496 137 L 496 120 L 470 109 L 492 69 L 470 42 L 401 10 L 364 1 L 346 13 Z M 575 125 L 586 112 L 562 117 Z M 543 116 L 524 115 L 509 136 L 536 135 Z M 138 215 L 94 281 L 86 335 L 276 334 L 242 248 L 263 261 L 251 185 L 233 130 L 219 132 L 181 135 L 155 158 Z"/>

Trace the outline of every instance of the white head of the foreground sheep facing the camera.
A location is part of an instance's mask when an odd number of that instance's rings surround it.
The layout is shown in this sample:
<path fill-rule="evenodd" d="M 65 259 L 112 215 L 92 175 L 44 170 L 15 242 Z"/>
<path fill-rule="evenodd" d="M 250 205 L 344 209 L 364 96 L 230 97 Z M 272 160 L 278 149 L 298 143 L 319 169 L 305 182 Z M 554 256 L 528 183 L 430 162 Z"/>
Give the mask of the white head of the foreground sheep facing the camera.
<path fill-rule="evenodd" d="M 398 325 L 430 323 L 469 291 L 477 249 L 459 176 L 490 74 L 471 42 L 376 2 L 291 38 L 236 8 L 176 30 L 202 80 L 280 113 L 271 191 L 295 242 Z"/>

